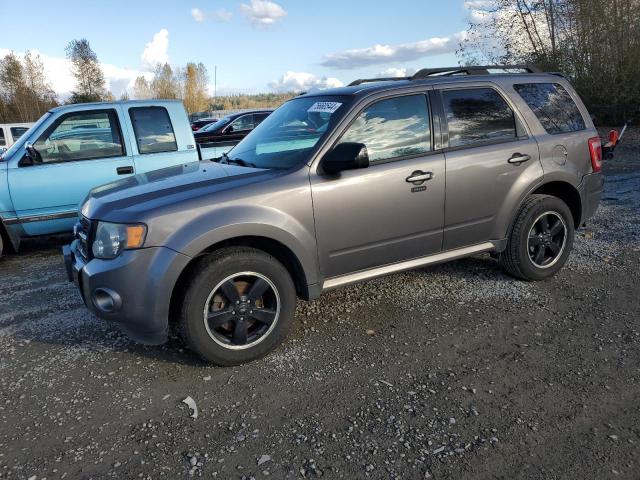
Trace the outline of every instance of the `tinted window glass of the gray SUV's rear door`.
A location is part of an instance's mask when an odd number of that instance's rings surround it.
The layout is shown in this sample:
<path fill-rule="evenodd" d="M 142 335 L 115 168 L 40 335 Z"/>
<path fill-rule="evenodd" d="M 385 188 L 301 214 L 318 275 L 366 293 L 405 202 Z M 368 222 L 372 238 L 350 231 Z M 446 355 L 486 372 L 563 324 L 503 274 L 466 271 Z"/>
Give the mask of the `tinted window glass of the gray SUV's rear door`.
<path fill-rule="evenodd" d="M 449 146 L 463 147 L 517 138 L 513 110 L 492 88 L 444 90 Z"/>

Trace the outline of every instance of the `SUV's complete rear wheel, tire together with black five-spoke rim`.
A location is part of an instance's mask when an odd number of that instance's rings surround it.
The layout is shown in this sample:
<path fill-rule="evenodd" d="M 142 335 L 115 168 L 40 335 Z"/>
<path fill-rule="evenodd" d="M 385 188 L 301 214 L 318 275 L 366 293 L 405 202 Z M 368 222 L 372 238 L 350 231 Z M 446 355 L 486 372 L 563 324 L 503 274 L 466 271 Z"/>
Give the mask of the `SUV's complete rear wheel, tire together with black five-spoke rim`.
<path fill-rule="evenodd" d="M 531 195 L 511 227 L 500 265 L 522 280 L 549 278 L 566 263 L 574 235 L 573 215 L 566 203 L 550 195 Z"/>

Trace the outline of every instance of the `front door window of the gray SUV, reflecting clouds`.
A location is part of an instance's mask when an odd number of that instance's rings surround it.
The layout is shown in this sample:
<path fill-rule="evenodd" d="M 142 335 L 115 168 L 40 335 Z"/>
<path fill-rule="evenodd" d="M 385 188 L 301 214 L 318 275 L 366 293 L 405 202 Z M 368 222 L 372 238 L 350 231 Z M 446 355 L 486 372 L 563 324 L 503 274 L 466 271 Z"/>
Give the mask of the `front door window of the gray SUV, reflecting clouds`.
<path fill-rule="evenodd" d="M 363 143 L 371 164 L 431 150 L 426 95 L 381 100 L 358 115 L 340 143 Z"/>

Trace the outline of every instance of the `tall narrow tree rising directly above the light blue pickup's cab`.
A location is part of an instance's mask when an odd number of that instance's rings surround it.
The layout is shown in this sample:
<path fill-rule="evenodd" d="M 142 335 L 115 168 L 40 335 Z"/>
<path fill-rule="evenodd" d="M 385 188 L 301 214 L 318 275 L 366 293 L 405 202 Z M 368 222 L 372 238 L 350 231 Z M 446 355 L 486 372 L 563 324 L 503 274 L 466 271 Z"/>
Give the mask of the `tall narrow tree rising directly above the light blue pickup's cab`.
<path fill-rule="evenodd" d="M 66 48 L 76 77 L 76 89 L 71 93 L 71 103 L 99 102 L 106 95 L 104 74 L 98 56 L 85 38 L 72 40 Z"/>

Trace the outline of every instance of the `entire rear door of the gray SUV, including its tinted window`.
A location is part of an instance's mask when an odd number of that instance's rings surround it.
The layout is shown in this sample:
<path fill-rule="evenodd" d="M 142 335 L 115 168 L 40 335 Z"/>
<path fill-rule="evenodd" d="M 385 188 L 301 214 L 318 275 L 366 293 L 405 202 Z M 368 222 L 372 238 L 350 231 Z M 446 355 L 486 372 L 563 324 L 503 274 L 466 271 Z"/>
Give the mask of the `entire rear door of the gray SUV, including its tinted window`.
<path fill-rule="evenodd" d="M 444 250 L 506 236 L 505 217 L 543 175 L 536 140 L 493 84 L 439 88 L 447 166 Z"/>

